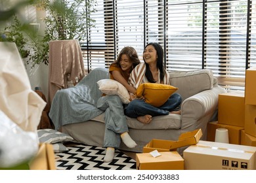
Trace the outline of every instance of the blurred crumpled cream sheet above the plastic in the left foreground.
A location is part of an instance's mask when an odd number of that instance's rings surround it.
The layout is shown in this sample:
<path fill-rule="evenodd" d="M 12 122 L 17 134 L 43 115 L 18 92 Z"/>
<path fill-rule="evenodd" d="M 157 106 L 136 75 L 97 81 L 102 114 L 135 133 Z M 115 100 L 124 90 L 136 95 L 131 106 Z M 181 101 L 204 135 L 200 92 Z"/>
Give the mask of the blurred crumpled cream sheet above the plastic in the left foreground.
<path fill-rule="evenodd" d="M 36 131 L 45 101 L 31 86 L 14 42 L 0 42 L 0 110 L 24 131 Z"/>

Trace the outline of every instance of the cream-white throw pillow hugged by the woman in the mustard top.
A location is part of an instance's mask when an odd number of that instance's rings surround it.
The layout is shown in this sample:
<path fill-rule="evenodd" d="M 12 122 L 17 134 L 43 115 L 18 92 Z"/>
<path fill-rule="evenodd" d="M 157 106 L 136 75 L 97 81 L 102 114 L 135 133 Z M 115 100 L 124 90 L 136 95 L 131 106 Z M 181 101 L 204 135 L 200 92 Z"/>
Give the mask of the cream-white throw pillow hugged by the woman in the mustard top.
<path fill-rule="evenodd" d="M 98 89 L 106 95 L 118 95 L 125 104 L 129 103 L 129 93 L 123 84 L 112 79 L 102 79 L 97 82 Z"/>

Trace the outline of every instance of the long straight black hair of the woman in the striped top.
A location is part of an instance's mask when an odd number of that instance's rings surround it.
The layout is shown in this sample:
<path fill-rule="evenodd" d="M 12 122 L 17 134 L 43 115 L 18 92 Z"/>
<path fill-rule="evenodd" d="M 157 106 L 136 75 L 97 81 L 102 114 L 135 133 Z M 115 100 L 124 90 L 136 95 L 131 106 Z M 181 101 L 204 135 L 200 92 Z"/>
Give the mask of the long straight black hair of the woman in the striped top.
<path fill-rule="evenodd" d="M 150 42 L 146 44 L 145 48 L 149 45 L 154 46 L 154 48 L 156 49 L 156 54 L 158 55 L 156 67 L 160 71 L 160 80 L 163 80 L 163 77 L 165 76 L 165 69 L 163 66 L 163 48 L 157 42 Z M 143 57 L 143 60 L 144 60 L 144 57 Z M 146 63 L 145 60 L 144 60 L 144 63 L 146 64 L 146 73 L 145 73 L 146 78 L 148 79 L 149 82 L 156 82 L 156 80 L 154 80 L 153 75 L 150 71 L 148 63 Z"/>

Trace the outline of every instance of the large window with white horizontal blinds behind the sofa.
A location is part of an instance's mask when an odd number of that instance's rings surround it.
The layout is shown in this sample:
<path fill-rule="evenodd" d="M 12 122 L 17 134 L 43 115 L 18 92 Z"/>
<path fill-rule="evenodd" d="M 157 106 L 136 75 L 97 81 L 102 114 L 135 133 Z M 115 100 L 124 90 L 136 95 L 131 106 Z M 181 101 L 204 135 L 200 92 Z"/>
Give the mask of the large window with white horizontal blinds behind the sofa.
<path fill-rule="evenodd" d="M 211 69 L 228 90 L 244 90 L 245 69 L 256 67 L 256 0 L 97 0 L 95 8 L 83 44 L 89 70 L 109 67 L 124 46 L 142 60 L 148 42 L 163 46 L 168 71 Z"/>

